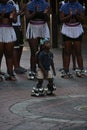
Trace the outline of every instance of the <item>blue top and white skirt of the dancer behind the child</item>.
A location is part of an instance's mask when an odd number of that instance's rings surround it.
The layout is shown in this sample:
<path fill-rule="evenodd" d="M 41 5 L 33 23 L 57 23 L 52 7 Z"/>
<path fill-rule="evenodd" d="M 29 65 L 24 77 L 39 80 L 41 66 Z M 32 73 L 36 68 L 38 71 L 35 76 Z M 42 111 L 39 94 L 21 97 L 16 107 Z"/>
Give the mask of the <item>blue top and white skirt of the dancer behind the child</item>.
<path fill-rule="evenodd" d="M 44 16 L 42 16 L 41 14 L 42 12 L 44 12 L 45 9 L 49 8 L 49 3 L 45 0 L 32 0 L 27 5 L 27 10 L 29 12 L 34 12 L 36 5 L 38 5 L 38 12 L 36 16 L 28 23 L 26 38 L 50 38 L 50 32 L 47 22 L 44 20 Z"/>

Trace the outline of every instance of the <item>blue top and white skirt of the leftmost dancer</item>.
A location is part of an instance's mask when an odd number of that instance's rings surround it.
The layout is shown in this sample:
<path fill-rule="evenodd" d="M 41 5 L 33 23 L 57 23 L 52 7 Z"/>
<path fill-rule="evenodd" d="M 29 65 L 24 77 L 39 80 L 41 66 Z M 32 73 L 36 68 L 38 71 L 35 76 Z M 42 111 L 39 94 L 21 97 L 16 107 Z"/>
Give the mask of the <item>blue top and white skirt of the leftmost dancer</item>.
<path fill-rule="evenodd" d="M 11 4 L 0 4 L 0 15 L 4 11 L 4 18 L 10 17 L 10 14 L 14 10 L 14 6 Z M 16 41 L 16 34 L 12 27 L 12 24 L 3 24 L 0 22 L 0 42 L 9 43 Z"/>

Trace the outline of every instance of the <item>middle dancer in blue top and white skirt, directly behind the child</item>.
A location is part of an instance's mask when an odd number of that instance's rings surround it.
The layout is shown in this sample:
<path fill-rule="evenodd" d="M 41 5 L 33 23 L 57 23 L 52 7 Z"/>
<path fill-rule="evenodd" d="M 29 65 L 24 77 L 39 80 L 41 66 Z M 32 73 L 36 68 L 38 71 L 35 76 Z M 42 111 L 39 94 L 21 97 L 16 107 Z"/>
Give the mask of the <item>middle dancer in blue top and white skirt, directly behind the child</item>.
<path fill-rule="evenodd" d="M 28 39 L 31 56 L 31 76 L 36 73 L 35 55 L 38 51 L 40 38 L 50 38 L 47 21 L 49 20 L 50 5 L 45 0 L 33 0 L 26 7 L 26 20 L 28 21 L 26 38 Z M 30 76 L 29 76 L 30 77 Z"/>

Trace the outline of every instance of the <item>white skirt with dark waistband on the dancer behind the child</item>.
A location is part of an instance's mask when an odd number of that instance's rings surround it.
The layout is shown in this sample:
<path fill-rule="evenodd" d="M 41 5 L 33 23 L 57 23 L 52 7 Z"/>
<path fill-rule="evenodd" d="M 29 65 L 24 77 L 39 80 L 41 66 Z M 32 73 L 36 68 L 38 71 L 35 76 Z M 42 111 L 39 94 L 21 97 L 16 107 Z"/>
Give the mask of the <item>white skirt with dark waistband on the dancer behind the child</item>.
<path fill-rule="evenodd" d="M 44 21 L 30 21 L 26 31 L 26 38 L 50 38 L 48 25 Z"/>

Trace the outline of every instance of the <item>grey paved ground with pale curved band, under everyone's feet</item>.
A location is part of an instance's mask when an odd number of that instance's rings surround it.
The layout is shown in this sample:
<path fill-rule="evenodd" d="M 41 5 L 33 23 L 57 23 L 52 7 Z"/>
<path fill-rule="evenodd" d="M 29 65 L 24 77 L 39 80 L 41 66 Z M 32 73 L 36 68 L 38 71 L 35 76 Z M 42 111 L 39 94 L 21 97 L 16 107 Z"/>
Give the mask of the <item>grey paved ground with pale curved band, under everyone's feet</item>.
<path fill-rule="evenodd" d="M 0 82 L 0 130 L 87 130 L 87 77 L 62 79 L 61 49 L 53 49 L 57 76 L 55 96 L 32 97 L 37 81 L 27 73 L 17 75 L 16 82 Z M 83 44 L 84 67 L 87 45 Z M 21 65 L 29 69 L 29 48 L 25 47 Z M 72 71 L 72 63 L 70 65 Z M 5 61 L 2 62 L 5 71 Z M 46 84 L 46 81 L 44 85 Z"/>

